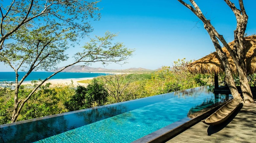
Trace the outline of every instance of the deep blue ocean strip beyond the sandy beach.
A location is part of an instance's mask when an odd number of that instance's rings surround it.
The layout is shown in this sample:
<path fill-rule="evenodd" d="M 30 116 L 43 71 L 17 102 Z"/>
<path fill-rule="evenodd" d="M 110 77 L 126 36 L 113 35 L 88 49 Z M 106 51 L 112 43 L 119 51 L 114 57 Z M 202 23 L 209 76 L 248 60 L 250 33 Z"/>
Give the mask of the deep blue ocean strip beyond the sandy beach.
<path fill-rule="evenodd" d="M 54 72 L 46 71 L 35 71 L 31 72 L 30 75 L 24 81 L 32 80 L 44 80 L 45 78 L 52 75 Z M 26 72 L 18 72 L 18 80 L 26 74 Z M 54 75 L 49 80 L 60 80 L 60 79 L 78 79 L 78 78 L 88 78 L 88 77 L 97 77 L 101 75 L 107 75 L 108 73 L 94 73 L 94 72 L 59 72 Z M 15 81 L 15 72 L 0 72 L 0 82 L 14 82 Z"/>

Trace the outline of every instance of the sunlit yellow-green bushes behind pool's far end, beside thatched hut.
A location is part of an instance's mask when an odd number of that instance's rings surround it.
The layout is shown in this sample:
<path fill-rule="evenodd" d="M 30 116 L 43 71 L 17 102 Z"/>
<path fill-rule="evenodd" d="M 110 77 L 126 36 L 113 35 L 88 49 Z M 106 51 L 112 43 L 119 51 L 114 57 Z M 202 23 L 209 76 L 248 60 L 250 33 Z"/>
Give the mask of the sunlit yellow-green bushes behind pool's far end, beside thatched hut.
<path fill-rule="evenodd" d="M 145 83 L 145 93 L 149 96 L 163 94 L 213 83 L 211 75 L 191 74 L 185 58 L 174 61 L 173 68 L 163 66 L 152 74 Z"/>

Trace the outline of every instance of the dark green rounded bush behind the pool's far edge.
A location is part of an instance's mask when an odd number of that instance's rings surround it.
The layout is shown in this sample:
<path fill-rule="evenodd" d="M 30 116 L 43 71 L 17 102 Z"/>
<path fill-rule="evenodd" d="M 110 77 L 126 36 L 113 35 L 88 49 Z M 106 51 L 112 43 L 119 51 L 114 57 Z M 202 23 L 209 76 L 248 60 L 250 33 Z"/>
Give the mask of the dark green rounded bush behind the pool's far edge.
<path fill-rule="evenodd" d="M 104 105 L 107 102 L 108 92 L 95 78 L 87 86 L 77 86 L 75 95 L 64 103 L 68 111 Z"/>

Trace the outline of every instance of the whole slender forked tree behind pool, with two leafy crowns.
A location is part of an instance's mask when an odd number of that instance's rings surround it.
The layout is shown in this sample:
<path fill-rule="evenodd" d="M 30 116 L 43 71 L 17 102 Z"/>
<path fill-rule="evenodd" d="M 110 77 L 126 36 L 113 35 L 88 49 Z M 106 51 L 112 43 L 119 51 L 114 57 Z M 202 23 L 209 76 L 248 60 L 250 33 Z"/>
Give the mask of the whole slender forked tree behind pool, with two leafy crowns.
<path fill-rule="evenodd" d="M 102 64 L 115 62 L 122 64 L 120 62 L 127 60 L 134 51 L 127 49 L 119 42 L 112 44 L 111 40 L 117 36 L 116 34 L 106 32 L 104 37 L 96 36 L 95 39 L 91 39 L 90 42 L 82 47 L 83 52 L 78 52 L 74 55 L 74 63 L 55 71 L 35 86 L 25 99 L 20 99 L 18 95 L 19 88 L 32 71 L 55 69 L 57 63 L 68 59 L 68 56 L 64 53 L 68 49 L 67 39 L 70 37 L 70 33 L 66 33 L 67 29 L 59 30 L 59 26 L 58 24 L 46 25 L 32 30 L 21 26 L 19 30 L 10 36 L 15 42 L 3 45 L 5 48 L 0 53 L 0 61 L 9 65 L 16 73 L 11 122 L 16 121 L 22 107 L 35 91 L 58 72 L 80 62 L 83 62 L 85 65 L 93 62 L 102 62 Z M 27 72 L 21 79 L 18 79 L 18 71 L 20 70 Z"/>

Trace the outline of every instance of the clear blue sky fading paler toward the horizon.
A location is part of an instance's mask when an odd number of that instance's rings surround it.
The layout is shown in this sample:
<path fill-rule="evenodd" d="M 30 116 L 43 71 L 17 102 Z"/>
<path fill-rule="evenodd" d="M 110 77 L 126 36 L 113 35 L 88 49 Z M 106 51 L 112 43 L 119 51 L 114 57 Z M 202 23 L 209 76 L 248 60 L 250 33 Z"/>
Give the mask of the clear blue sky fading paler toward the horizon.
<path fill-rule="evenodd" d="M 237 3 L 238 0 L 231 0 Z M 234 40 L 236 18 L 223 0 L 196 0 L 205 17 L 224 36 L 227 42 Z M 254 0 L 244 0 L 248 15 L 246 33 L 256 33 Z M 134 55 L 124 65 L 93 63 L 90 67 L 107 69 L 145 68 L 155 70 L 162 66 L 173 66 L 173 61 L 186 58 L 197 60 L 215 51 L 202 22 L 177 0 L 102 0 L 97 4 L 101 13 L 99 21 L 91 21 L 94 29 L 91 37 L 103 36 L 106 31 L 118 33 L 115 41 L 135 49 Z M 80 45 L 88 42 L 82 40 Z M 67 53 L 73 56 L 79 46 L 71 47 Z M 59 67 L 71 63 L 61 62 Z M 0 71 L 12 71 L 0 63 Z"/>

